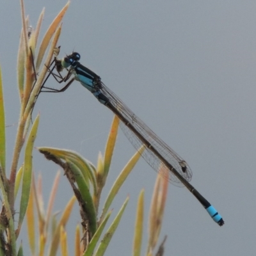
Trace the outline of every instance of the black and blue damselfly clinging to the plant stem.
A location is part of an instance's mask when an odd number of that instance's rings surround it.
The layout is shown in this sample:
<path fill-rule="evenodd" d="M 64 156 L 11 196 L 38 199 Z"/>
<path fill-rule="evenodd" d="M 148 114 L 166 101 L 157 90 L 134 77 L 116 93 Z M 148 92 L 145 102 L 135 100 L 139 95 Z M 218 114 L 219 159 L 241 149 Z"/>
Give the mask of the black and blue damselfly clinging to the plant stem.
<path fill-rule="evenodd" d="M 52 74 L 58 83 L 68 83 L 60 90 L 45 87 L 43 85 L 47 91 L 42 92 L 64 92 L 74 80 L 79 81 L 86 89 L 92 92 L 100 103 L 111 109 L 111 111 L 120 118 L 122 121 L 120 123 L 122 131 L 125 136 L 127 136 L 128 140 L 131 141 L 136 150 L 138 150 L 141 145 L 145 145 L 146 149 L 144 150 L 142 157 L 147 163 L 150 164 L 156 172 L 159 170 L 160 164 L 164 164 L 164 166 L 170 170 L 170 182 L 176 186 L 186 186 L 186 188 L 188 188 L 204 206 L 211 218 L 218 223 L 218 225 L 222 226 L 224 221 L 220 214 L 218 214 L 216 209 L 204 198 L 204 196 L 189 183 L 192 177 L 192 172 L 186 161 L 151 131 L 138 116 L 134 115 L 134 113 L 125 106 L 122 100 L 102 83 L 97 74 L 81 65 L 79 60 L 80 54 L 77 52 L 73 52 L 63 58 L 63 60 L 55 58 L 52 62 L 54 67 L 51 70 L 49 69 L 49 75 Z M 68 70 L 67 76 L 65 77 L 62 77 L 60 74 L 63 68 L 67 68 Z M 58 75 L 53 74 L 54 69 L 58 71 Z M 70 79 L 72 75 L 73 77 Z M 58 80 L 58 77 L 60 80 Z"/>

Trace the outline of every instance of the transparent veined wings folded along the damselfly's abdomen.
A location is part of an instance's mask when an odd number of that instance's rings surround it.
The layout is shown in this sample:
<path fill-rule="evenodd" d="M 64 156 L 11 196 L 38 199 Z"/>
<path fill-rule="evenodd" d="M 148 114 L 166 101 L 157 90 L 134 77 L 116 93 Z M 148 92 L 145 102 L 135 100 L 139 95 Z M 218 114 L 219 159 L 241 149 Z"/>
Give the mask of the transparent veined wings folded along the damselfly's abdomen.
<path fill-rule="evenodd" d="M 100 87 L 100 92 L 108 97 L 109 101 L 111 104 L 113 104 L 118 113 L 124 116 L 125 120 L 130 123 L 129 125 L 132 125 L 132 127 L 134 127 L 134 129 L 138 131 L 138 133 L 140 133 L 141 136 L 143 136 L 143 138 L 150 143 L 150 145 L 156 148 L 161 155 L 156 156 L 156 154 L 150 150 L 150 147 L 146 147 L 146 150 L 141 155 L 145 161 L 147 161 L 147 163 L 152 166 L 156 172 L 158 172 L 160 164 L 164 164 L 163 159 L 165 159 L 172 165 L 173 168 L 175 168 L 177 172 L 179 172 L 180 175 L 182 175 L 184 179 L 189 182 L 192 178 L 192 171 L 188 164 L 186 164 L 186 161 L 184 161 L 184 159 L 182 159 L 174 150 L 172 150 L 172 148 L 170 148 L 153 131 L 151 131 L 151 129 L 148 128 L 147 125 L 143 123 L 140 118 L 138 118 L 138 116 L 132 113 L 132 111 L 125 106 L 122 100 L 120 100 L 115 93 L 111 92 L 111 90 L 109 90 L 105 84 L 101 83 Z M 141 141 L 141 139 L 129 127 L 127 127 L 127 125 L 124 124 L 124 122 L 120 122 L 120 127 L 136 150 L 138 150 L 141 145 L 144 144 L 143 141 Z M 164 165 L 166 166 L 166 164 Z M 184 171 L 184 168 L 182 170 L 182 166 L 186 166 L 186 171 Z M 168 168 L 168 166 L 166 166 L 166 168 Z M 168 169 L 170 170 L 170 168 Z M 184 184 L 182 184 L 175 174 L 172 173 L 172 170 L 169 175 L 169 181 L 175 186 L 184 186 Z"/>

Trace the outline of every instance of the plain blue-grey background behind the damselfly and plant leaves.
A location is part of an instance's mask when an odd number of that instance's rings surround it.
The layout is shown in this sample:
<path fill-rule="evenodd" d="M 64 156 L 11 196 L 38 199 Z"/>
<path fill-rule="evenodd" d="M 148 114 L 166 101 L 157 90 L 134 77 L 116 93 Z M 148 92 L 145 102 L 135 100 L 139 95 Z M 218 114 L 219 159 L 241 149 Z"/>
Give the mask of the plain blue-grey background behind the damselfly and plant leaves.
<path fill-rule="evenodd" d="M 46 8 L 45 31 L 66 1 L 25 3 L 34 27 Z M 255 254 L 255 12 L 255 1 L 74 0 L 63 20 L 60 56 L 79 52 L 81 63 L 186 159 L 193 170 L 191 184 L 225 220 L 218 227 L 187 189 L 170 186 L 161 231 L 162 239 L 168 235 L 165 255 Z M 0 21 L 6 124 L 13 124 L 19 116 L 18 1 L 2 1 Z M 59 84 L 52 80 L 51 86 Z M 34 118 L 39 111 L 36 146 L 76 150 L 96 164 L 113 119 L 109 109 L 74 83 L 65 93 L 40 95 Z M 16 129 L 6 131 L 9 167 Z M 132 154 L 120 131 L 105 193 Z M 43 175 L 47 200 L 58 166 L 35 150 L 34 168 Z M 115 216 L 129 193 L 106 255 L 131 255 L 138 194 L 145 188 L 148 211 L 155 179 L 141 159 L 113 204 Z M 61 177 L 54 211 L 62 210 L 71 195 Z M 71 224 L 78 222 L 74 213 Z M 145 225 L 145 242 L 146 232 Z"/>

